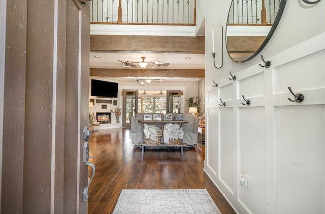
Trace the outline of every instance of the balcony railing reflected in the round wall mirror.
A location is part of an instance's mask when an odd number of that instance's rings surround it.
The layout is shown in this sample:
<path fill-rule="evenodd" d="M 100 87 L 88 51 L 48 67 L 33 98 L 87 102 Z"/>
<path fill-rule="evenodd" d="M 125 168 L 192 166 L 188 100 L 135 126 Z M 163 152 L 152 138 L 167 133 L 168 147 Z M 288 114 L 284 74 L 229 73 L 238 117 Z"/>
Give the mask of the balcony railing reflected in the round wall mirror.
<path fill-rule="evenodd" d="M 234 0 L 228 24 L 273 24 L 281 0 Z"/>

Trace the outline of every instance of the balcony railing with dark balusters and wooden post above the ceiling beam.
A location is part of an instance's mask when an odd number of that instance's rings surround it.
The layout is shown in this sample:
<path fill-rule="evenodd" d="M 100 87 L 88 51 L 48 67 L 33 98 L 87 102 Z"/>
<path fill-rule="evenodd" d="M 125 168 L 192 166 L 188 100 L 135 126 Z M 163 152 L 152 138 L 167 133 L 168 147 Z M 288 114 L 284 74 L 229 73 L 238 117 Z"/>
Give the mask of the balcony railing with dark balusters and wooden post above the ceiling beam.
<path fill-rule="evenodd" d="M 195 0 L 93 0 L 91 22 L 194 24 Z"/>

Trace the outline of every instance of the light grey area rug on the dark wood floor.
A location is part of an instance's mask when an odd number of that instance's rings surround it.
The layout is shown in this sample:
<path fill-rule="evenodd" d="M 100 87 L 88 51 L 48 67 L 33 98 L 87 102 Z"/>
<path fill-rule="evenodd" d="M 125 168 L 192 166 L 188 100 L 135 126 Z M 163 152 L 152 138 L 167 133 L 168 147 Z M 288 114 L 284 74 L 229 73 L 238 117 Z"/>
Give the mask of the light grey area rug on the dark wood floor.
<path fill-rule="evenodd" d="M 122 190 L 117 213 L 221 213 L 206 189 L 199 190 Z"/>

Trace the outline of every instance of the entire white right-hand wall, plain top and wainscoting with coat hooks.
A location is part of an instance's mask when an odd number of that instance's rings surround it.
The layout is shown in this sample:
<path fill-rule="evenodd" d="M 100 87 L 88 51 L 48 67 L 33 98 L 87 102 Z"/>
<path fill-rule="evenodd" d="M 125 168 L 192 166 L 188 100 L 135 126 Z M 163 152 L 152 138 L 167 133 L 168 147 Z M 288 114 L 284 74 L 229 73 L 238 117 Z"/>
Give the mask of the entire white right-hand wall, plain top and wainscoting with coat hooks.
<path fill-rule="evenodd" d="M 324 213 L 325 211 L 325 1 L 287 1 L 280 23 L 259 55 L 244 63 L 230 59 L 221 27 L 231 1 L 206 0 L 205 172 L 238 213 Z M 204 6 L 202 6 L 204 7 Z M 317 36 L 317 37 L 316 37 Z M 224 38 L 223 38 L 224 39 Z M 229 80 L 229 72 L 237 76 Z M 213 80 L 218 88 L 213 88 Z M 292 99 L 287 87 L 305 95 Z M 241 95 L 251 100 L 243 106 Z M 220 107 L 219 99 L 226 102 Z M 250 189 L 240 186 L 247 174 Z"/>

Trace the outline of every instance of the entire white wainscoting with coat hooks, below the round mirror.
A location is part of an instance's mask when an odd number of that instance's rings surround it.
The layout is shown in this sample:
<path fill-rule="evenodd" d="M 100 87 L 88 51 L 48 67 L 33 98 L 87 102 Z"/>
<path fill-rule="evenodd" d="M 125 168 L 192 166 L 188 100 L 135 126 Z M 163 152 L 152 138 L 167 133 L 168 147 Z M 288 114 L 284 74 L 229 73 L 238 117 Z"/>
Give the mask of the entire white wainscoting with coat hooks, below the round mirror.
<path fill-rule="evenodd" d="M 323 41 L 325 33 L 270 57 L 269 68 L 234 71 L 235 81 L 208 93 L 205 172 L 238 213 L 325 213 Z M 304 100 L 288 100 L 288 87 Z"/>

